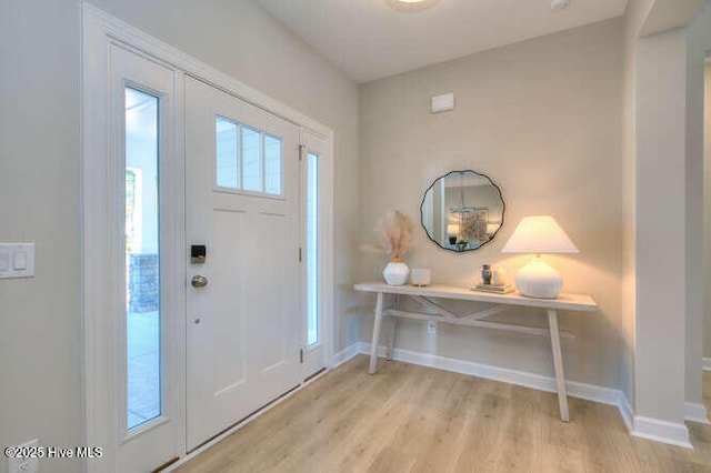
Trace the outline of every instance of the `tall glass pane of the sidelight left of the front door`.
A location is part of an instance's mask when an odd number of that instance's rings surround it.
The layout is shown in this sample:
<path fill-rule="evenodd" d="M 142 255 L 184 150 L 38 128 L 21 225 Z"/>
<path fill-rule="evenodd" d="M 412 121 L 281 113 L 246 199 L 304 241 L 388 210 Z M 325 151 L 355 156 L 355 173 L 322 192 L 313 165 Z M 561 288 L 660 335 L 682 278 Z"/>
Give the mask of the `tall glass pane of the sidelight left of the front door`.
<path fill-rule="evenodd" d="M 126 89 L 128 427 L 161 413 L 158 98 Z"/>

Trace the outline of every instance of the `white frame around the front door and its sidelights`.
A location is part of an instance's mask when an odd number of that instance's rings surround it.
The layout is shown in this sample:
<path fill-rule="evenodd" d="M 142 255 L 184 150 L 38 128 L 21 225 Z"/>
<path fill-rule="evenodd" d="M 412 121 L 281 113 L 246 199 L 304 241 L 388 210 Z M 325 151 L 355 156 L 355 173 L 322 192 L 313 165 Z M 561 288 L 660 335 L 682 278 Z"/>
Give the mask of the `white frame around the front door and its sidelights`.
<path fill-rule="evenodd" d="M 108 120 L 108 91 L 109 80 L 107 76 L 108 51 L 111 43 L 133 50 L 141 56 L 154 60 L 176 71 L 177 102 L 182 103 L 182 83 L 186 76 L 200 79 L 211 85 L 232 94 L 246 102 L 264 109 L 284 120 L 302 128 L 301 135 L 316 135 L 326 141 L 326 152 L 321 157 L 322 169 L 322 231 L 321 235 L 321 293 L 322 320 L 324 329 L 324 349 L 327 368 L 333 368 L 333 131 L 321 123 L 311 120 L 302 113 L 271 99 L 270 97 L 234 80 L 233 78 L 211 68 L 171 46 L 146 34 L 144 32 L 109 16 L 102 10 L 83 3 L 82 7 L 82 158 L 81 158 L 81 253 L 82 253 L 82 338 L 83 338 L 83 391 L 84 391 L 84 422 L 86 443 L 92 446 L 103 447 L 102 460 L 91 460 L 86 464 L 87 472 L 112 472 L 116 470 L 116 452 L 120 442 L 117 424 L 117 386 L 114 366 L 117 353 L 107 350 L 112 346 L 116 336 L 111 324 L 106 324 L 102 314 L 106 308 L 113 304 L 113 274 L 107 269 L 114 264 L 111 261 L 112 241 L 111 230 L 116 224 L 116 209 L 112 208 L 114 195 L 106 185 L 111 175 L 113 163 L 108 159 L 111 155 L 109 149 L 109 120 Z M 182 110 L 176 113 L 177 131 L 174 137 L 174 153 L 178 161 L 178 172 L 184 173 L 183 129 L 184 117 Z M 301 144 L 306 144 L 301 143 Z M 171 197 L 179 202 L 179 221 L 182 227 L 173 229 L 181 241 L 176 245 L 187 251 L 184 240 L 184 187 L 176 187 L 170 190 Z M 120 217 L 123 218 L 122 215 Z M 176 273 L 170 276 L 186 278 L 184 259 L 171 262 Z M 183 328 L 187 323 L 184 314 L 186 292 L 184 284 L 180 294 L 176 294 L 180 309 L 180 319 Z M 184 335 L 184 333 L 183 333 Z M 173 340 L 178 344 L 180 354 L 176 372 L 184 373 L 186 366 L 186 340 L 179 336 Z M 171 381 L 171 388 L 177 388 L 184 406 L 186 380 L 184 376 Z M 181 439 L 177 440 L 177 455 L 184 456 L 184 409 L 181 410 L 181 419 L 176 421 L 182 425 Z"/>

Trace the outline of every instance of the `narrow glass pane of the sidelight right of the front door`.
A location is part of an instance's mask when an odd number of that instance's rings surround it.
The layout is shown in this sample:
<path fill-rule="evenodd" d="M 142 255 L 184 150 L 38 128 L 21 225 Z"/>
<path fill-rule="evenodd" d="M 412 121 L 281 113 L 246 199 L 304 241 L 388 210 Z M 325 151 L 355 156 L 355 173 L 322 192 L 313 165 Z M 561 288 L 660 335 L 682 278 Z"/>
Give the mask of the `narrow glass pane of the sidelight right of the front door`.
<path fill-rule="evenodd" d="M 319 342 L 319 157 L 307 154 L 307 330 L 308 344 Z"/>

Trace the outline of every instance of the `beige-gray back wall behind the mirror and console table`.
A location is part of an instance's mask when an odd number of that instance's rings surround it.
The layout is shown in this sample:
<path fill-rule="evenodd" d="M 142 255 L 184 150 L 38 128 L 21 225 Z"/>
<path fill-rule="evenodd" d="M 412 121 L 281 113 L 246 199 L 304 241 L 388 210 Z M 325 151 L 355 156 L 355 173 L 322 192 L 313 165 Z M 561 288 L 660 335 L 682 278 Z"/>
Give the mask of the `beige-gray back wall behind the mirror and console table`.
<path fill-rule="evenodd" d="M 581 250 L 550 256 L 568 292 L 589 293 L 595 314 L 564 313 L 578 338 L 563 342 L 569 379 L 619 388 L 622 258 L 622 20 L 520 42 L 361 85 L 361 240 L 388 209 L 419 220 L 422 193 L 450 170 L 489 174 L 507 202 L 504 225 L 482 250 L 438 249 L 418 227 L 411 266 L 439 282 L 471 284 L 483 263 L 510 274 L 529 255 L 500 253 L 527 214 L 553 214 Z M 454 92 L 453 112 L 431 114 L 432 95 Z M 361 278 L 382 255 L 363 255 Z M 363 296 L 363 311 L 372 298 Z M 543 324 L 538 311 L 509 319 Z M 369 341 L 372 318 L 363 316 Z M 402 324 L 398 346 L 552 375 L 549 341 L 460 326 Z"/>

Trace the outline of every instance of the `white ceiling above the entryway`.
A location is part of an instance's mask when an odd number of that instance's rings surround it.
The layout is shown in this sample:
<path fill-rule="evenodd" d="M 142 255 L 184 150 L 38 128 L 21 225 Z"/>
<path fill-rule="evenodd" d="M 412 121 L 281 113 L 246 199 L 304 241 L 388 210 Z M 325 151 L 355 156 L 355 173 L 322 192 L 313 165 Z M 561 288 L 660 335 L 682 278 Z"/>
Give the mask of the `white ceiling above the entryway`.
<path fill-rule="evenodd" d="M 628 0 L 441 0 L 397 12 L 385 0 L 257 0 L 357 82 L 622 16 Z"/>

